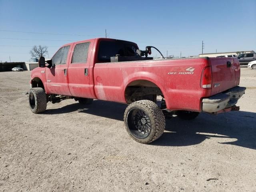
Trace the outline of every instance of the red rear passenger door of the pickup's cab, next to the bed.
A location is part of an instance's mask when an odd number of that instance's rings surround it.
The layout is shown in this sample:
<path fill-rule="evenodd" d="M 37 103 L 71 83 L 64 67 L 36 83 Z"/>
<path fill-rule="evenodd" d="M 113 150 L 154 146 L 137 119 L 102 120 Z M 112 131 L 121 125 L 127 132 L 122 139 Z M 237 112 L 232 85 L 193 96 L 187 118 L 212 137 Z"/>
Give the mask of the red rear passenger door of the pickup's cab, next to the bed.
<path fill-rule="evenodd" d="M 94 40 L 76 42 L 72 48 L 72 57 L 68 66 L 68 86 L 72 96 L 94 98 L 90 92 L 93 88 L 93 66 L 90 67 L 90 57 Z"/>

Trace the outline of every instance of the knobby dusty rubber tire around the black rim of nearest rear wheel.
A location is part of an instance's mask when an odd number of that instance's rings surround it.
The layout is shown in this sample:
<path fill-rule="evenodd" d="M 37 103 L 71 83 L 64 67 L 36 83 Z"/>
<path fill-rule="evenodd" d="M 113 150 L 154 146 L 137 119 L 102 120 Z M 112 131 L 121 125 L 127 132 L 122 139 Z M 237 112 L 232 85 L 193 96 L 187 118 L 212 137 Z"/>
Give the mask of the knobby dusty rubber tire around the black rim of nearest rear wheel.
<path fill-rule="evenodd" d="M 132 116 L 133 110 L 140 110 L 144 112 L 150 120 L 151 129 L 146 138 L 138 138 L 131 132 L 130 128 L 132 122 L 128 119 L 134 118 L 134 116 Z M 162 110 L 154 102 L 150 100 L 140 100 L 133 102 L 126 108 L 124 112 L 124 125 L 126 127 L 126 131 L 132 137 L 132 139 L 140 143 L 148 144 L 158 139 L 163 134 L 165 129 L 165 117 Z"/>

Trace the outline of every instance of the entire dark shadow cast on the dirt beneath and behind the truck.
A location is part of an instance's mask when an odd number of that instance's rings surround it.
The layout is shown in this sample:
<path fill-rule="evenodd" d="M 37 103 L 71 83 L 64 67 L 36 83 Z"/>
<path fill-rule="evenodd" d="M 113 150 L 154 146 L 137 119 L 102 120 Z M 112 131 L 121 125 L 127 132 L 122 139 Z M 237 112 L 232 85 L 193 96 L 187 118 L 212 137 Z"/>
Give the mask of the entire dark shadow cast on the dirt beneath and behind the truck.
<path fill-rule="evenodd" d="M 44 114 L 60 114 L 78 111 L 123 121 L 126 104 L 94 100 L 91 105 L 70 104 L 58 109 L 46 110 Z M 124 127 L 120 127 L 124 130 Z M 190 146 L 206 139 L 218 138 L 220 144 L 231 144 L 256 149 L 256 113 L 228 112 L 212 116 L 201 113 L 194 120 L 166 119 L 164 134 L 150 143 L 156 146 Z"/>

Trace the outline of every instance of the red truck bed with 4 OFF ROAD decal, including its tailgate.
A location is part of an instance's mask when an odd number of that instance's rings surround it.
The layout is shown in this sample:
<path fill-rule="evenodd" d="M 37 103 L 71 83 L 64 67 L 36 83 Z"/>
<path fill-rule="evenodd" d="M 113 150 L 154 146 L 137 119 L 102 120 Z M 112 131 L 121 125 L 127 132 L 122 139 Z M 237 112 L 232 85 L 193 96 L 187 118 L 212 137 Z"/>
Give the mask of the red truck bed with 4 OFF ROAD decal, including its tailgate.
<path fill-rule="evenodd" d="M 204 89 L 200 82 L 207 66 L 212 68 L 212 86 Z M 175 58 L 96 63 L 94 66 L 94 90 L 98 99 L 126 103 L 124 90 L 142 84 L 160 88 L 171 110 L 200 112 L 203 98 L 233 88 L 239 81 L 240 66 L 234 58 Z"/>

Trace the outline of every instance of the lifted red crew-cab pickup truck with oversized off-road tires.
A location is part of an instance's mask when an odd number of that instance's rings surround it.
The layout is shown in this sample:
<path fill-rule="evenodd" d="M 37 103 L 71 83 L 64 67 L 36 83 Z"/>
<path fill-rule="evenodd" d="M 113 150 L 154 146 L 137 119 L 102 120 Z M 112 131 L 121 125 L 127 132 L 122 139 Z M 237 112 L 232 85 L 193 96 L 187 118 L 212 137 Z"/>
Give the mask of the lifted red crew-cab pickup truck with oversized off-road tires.
<path fill-rule="evenodd" d="M 133 42 L 96 38 L 62 46 L 31 72 L 29 104 L 33 113 L 47 102 L 94 99 L 129 104 L 124 112 L 128 134 L 150 143 L 165 129 L 165 116 L 190 120 L 200 112 L 239 110 L 244 94 L 237 58 L 148 57 Z M 157 50 L 157 49 L 156 49 Z M 160 53 L 161 54 L 161 53 Z"/>

